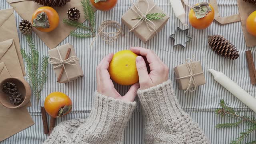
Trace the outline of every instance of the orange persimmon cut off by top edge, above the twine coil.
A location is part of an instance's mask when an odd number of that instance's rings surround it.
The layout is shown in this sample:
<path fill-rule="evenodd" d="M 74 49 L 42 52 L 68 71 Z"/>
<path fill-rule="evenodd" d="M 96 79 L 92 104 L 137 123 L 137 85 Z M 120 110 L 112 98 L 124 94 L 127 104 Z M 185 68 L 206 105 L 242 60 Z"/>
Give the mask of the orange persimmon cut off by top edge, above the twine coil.
<path fill-rule="evenodd" d="M 108 11 L 116 6 L 117 0 L 90 0 L 98 10 Z"/>

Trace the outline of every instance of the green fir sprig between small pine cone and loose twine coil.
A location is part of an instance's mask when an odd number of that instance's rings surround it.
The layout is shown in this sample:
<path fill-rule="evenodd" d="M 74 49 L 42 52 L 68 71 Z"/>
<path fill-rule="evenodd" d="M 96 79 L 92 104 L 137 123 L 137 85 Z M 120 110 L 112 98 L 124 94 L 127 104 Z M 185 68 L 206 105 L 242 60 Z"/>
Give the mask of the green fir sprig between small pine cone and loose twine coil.
<path fill-rule="evenodd" d="M 77 21 L 73 21 L 73 20 L 69 20 L 68 18 L 65 18 L 62 22 L 64 24 L 67 24 L 69 26 L 74 26 L 74 27 L 78 27 L 84 31 L 86 31 L 87 33 L 82 33 L 82 32 L 75 32 L 72 31 L 70 32 L 71 36 L 77 37 L 77 38 L 91 38 L 91 37 L 95 37 L 96 36 L 96 23 L 95 23 L 95 13 L 92 7 L 92 4 L 90 3 L 90 0 L 82 0 L 82 7 L 83 7 L 83 11 L 84 11 L 84 18 L 87 20 L 87 25 L 77 22 Z"/>

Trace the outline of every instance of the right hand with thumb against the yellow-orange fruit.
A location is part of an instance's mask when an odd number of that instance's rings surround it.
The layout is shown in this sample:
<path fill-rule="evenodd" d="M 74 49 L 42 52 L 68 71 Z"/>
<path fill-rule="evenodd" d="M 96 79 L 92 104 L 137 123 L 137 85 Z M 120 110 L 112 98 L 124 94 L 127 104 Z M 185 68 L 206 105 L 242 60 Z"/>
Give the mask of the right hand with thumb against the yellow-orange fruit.
<path fill-rule="evenodd" d="M 136 66 L 139 74 L 140 89 L 144 90 L 157 86 L 168 80 L 169 68 L 156 56 L 152 50 L 140 47 L 132 47 L 130 50 L 136 54 L 146 56 L 150 73 L 148 74 L 146 63 L 141 56 L 136 58 Z"/>

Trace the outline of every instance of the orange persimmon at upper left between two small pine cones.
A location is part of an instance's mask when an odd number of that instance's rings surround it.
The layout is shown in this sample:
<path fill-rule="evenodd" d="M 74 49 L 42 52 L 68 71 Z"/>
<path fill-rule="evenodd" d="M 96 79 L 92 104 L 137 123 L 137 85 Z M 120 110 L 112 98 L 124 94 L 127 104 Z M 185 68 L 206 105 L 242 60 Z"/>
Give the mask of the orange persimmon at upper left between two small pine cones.
<path fill-rule="evenodd" d="M 33 26 L 41 32 L 51 32 L 58 27 L 59 22 L 58 12 L 49 6 L 38 8 L 32 15 Z"/>

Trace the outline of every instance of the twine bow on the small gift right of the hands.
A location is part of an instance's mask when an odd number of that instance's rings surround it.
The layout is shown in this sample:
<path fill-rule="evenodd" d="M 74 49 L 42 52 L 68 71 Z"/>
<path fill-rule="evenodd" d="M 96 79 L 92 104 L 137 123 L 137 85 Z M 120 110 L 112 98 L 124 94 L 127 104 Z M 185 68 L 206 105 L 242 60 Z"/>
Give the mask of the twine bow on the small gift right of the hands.
<path fill-rule="evenodd" d="M 176 78 L 176 80 L 181 80 L 181 79 L 184 79 L 184 78 L 190 78 L 190 80 L 188 82 L 188 87 L 187 87 L 187 89 L 185 90 L 184 93 L 186 93 L 187 91 L 189 91 L 189 92 L 196 91 L 198 85 L 196 84 L 195 76 L 198 76 L 198 75 L 204 73 L 204 72 L 199 72 L 199 73 L 194 74 L 194 70 L 196 68 L 196 65 L 193 64 L 192 62 L 193 62 L 192 59 L 190 59 L 190 58 L 186 59 L 186 66 L 188 68 L 189 75 L 188 76 L 183 76 L 183 77 L 180 77 L 180 78 Z M 194 88 L 192 90 L 190 89 L 191 85 L 194 85 Z"/>

